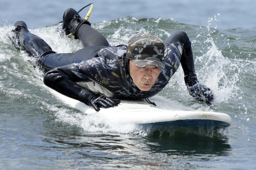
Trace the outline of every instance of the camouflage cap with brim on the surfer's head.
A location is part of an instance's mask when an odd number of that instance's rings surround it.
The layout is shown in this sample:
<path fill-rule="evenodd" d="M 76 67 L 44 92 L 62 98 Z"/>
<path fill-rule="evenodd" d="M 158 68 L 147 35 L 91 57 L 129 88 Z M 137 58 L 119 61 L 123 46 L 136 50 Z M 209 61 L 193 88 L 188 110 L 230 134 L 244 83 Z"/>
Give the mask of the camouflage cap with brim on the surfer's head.
<path fill-rule="evenodd" d="M 132 59 L 137 67 L 157 66 L 165 68 L 165 45 L 155 35 L 138 33 L 128 41 L 126 58 Z"/>

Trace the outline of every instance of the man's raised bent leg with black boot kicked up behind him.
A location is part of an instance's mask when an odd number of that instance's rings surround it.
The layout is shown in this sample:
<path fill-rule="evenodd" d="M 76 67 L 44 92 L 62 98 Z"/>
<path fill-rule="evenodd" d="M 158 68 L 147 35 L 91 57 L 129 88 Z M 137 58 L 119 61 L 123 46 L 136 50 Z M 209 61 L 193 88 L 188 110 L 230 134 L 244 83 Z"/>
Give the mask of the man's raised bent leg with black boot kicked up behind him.
<path fill-rule="evenodd" d="M 109 46 L 106 38 L 92 28 L 89 21 L 82 19 L 73 8 L 67 9 L 63 14 L 63 29 L 66 35 L 72 33 L 75 39 L 80 39 L 84 47 Z"/>

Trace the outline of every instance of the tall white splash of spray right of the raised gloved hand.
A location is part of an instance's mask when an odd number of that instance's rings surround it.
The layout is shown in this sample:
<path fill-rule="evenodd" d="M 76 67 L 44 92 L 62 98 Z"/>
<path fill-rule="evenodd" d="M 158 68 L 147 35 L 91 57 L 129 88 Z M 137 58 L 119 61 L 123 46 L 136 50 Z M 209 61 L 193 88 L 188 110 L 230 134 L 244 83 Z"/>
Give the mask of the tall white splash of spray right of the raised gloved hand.
<path fill-rule="evenodd" d="M 220 15 L 220 14 L 218 14 Z M 207 52 L 202 56 L 195 57 L 195 64 L 200 68 L 197 70 L 202 83 L 209 86 L 215 94 L 215 104 L 228 102 L 235 91 L 239 90 L 236 85 L 241 71 L 238 65 L 234 64 L 228 57 L 224 57 L 222 51 L 215 43 L 218 43 L 220 32 L 217 30 L 219 20 L 216 15 L 208 19 L 207 36 L 203 40 L 203 46 Z M 216 24 L 214 28 L 211 25 Z M 197 37 L 199 37 L 199 34 Z M 202 52 L 202 51 L 201 51 Z"/>

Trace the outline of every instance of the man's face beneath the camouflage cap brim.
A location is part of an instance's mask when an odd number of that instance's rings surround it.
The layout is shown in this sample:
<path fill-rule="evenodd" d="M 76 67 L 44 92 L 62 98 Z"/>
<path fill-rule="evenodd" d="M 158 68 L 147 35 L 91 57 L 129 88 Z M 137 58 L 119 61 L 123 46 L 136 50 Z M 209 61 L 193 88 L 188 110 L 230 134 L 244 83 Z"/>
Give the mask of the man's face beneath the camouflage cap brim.
<path fill-rule="evenodd" d="M 142 91 L 150 90 L 161 72 L 161 67 L 137 67 L 132 60 L 129 61 L 129 66 L 134 84 Z"/>

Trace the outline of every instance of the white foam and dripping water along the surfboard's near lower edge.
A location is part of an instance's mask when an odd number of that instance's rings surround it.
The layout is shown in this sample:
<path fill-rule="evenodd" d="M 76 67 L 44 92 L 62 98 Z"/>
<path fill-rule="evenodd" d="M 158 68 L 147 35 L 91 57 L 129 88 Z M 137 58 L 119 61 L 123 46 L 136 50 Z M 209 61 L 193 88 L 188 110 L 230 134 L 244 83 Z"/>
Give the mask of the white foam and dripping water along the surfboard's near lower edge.
<path fill-rule="evenodd" d="M 79 112 L 70 113 L 70 109 L 59 109 L 54 116 L 55 121 L 67 125 L 75 125 L 87 132 L 95 133 L 119 133 L 131 134 L 137 136 L 167 137 L 175 136 L 175 133 L 197 134 L 205 137 L 218 137 L 227 135 L 226 129 L 214 129 L 213 126 L 207 127 L 180 127 L 180 126 L 161 126 L 161 125 L 143 125 L 143 124 L 115 124 L 102 119 L 96 114 L 87 115 Z"/>

